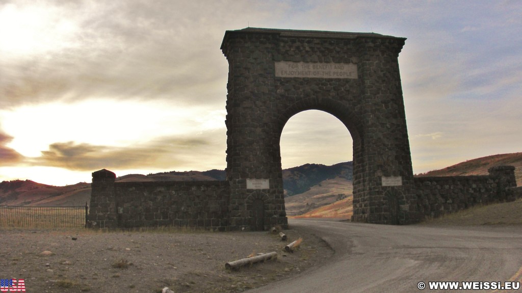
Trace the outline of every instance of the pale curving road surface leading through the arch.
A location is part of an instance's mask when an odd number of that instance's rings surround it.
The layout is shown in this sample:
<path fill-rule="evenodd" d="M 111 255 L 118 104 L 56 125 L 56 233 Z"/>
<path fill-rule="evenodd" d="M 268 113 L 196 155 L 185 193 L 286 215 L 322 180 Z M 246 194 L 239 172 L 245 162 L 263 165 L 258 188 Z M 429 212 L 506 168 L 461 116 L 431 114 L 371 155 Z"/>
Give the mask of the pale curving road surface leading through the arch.
<path fill-rule="evenodd" d="M 247 292 L 420 293 L 434 291 L 419 290 L 419 282 L 522 280 L 522 226 L 389 226 L 308 219 L 290 220 L 290 226 L 325 239 L 335 250 L 333 258 Z M 522 289 L 508 292 L 517 291 Z"/>

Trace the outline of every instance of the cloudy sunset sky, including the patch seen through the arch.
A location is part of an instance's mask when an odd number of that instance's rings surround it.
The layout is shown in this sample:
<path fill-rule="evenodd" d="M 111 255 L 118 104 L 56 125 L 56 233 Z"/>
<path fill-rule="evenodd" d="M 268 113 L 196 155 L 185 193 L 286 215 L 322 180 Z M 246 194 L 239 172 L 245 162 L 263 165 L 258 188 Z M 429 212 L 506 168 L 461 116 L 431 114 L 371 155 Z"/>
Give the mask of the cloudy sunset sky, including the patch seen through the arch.
<path fill-rule="evenodd" d="M 414 173 L 522 152 L 522 2 L 0 0 L 0 181 L 64 186 L 226 167 L 226 30 L 375 32 L 399 55 Z M 352 160 L 340 121 L 293 116 L 282 167 Z"/>

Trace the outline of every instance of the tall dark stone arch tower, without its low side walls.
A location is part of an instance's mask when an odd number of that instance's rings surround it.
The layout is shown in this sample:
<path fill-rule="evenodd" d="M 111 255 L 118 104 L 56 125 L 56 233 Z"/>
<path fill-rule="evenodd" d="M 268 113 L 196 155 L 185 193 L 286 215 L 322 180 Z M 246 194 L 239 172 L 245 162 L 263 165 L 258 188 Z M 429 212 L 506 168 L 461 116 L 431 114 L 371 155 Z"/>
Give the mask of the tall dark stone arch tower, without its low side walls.
<path fill-rule="evenodd" d="M 227 179 L 231 229 L 250 223 L 243 203 L 262 190 L 269 225 L 287 225 L 280 138 L 310 109 L 337 117 L 353 141 L 352 221 L 390 224 L 385 192 L 400 190 L 398 224 L 418 221 L 398 54 L 406 39 L 374 33 L 246 28 L 227 31 Z"/>

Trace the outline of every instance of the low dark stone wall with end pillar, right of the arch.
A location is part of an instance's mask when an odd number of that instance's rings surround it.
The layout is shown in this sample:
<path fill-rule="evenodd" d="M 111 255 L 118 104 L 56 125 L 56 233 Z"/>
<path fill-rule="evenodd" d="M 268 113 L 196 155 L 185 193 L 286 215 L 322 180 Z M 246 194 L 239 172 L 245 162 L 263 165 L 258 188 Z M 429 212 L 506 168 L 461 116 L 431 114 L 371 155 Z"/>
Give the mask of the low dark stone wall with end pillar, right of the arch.
<path fill-rule="evenodd" d="M 499 166 L 490 168 L 489 175 L 484 176 L 416 177 L 419 212 L 438 217 L 477 204 L 513 201 L 514 170 L 513 166 Z"/>

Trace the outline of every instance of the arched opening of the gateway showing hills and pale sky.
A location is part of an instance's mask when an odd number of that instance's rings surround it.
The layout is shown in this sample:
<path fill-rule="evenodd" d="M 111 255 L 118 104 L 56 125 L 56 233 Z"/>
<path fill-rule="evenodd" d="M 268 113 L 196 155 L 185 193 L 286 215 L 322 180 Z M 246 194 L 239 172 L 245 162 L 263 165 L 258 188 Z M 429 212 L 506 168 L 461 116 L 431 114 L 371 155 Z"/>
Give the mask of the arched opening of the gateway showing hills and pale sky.
<path fill-rule="evenodd" d="M 292 115 L 283 126 L 280 152 L 287 216 L 351 217 L 353 140 L 347 130 L 339 118 L 316 109 Z"/>

